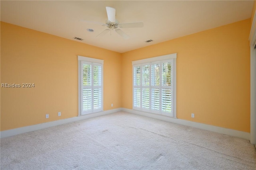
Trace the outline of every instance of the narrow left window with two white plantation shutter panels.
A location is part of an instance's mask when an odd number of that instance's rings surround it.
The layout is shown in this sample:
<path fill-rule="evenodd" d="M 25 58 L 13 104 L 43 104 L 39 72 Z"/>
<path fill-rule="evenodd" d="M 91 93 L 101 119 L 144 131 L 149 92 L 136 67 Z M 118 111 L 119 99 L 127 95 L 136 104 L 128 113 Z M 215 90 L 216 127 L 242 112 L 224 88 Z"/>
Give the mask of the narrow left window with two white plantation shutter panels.
<path fill-rule="evenodd" d="M 79 115 L 103 110 L 103 60 L 78 56 Z"/>

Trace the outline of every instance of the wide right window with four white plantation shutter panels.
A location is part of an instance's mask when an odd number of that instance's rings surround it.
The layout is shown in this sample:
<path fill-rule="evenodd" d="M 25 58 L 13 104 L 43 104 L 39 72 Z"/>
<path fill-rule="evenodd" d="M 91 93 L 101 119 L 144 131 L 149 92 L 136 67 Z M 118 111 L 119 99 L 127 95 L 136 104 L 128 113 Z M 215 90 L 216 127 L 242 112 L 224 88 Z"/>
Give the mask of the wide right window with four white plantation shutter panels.
<path fill-rule="evenodd" d="M 176 117 L 176 53 L 132 62 L 133 109 Z"/>

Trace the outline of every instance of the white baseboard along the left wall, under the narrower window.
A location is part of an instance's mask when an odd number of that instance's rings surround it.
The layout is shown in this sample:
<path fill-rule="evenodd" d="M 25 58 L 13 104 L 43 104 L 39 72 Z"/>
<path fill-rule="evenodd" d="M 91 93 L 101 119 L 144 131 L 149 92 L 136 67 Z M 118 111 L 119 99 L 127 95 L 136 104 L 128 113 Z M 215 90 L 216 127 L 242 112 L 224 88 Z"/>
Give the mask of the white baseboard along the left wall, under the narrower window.
<path fill-rule="evenodd" d="M 70 122 L 74 122 L 74 121 L 80 121 L 83 119 L 89 119 L 92 117 L 107 115 L 107 114 L 115 113 L 115 112 L 121 111 L 121 110 L 122 110 L 121 108 L 118 108 L 118 109 L 112 109 L 112 110 L 107 110 L 107 111 L 100 111 L 97 113 L 91 113 L 91 114 L 86 114 L 86 115 L 82 115 L 82 116 L 71 117 L 68 119 L 61 119 L 61 120 L 57 120 L 57 121 L 51 121 L 51 122 L 41 123 L 41 124 L 37 124 L 37 125 L 31 125 L 31 126 L 25 126 L 25 127 L 20 127 L 20 128 L 16 128 L 16 129 L 1 131 L 0 137 L 1 138 L 10 137 L 13 135 L 18 135 L 18 134 L 22 134 L 22 133 L 26 133 L 26 132 L 32 132 L 32 131 L 44 129 L 47 127 L 53 127 L 53 126 L 58 126 L 58 125 L 62 125 L 65 123 L 70 123 Z"/>

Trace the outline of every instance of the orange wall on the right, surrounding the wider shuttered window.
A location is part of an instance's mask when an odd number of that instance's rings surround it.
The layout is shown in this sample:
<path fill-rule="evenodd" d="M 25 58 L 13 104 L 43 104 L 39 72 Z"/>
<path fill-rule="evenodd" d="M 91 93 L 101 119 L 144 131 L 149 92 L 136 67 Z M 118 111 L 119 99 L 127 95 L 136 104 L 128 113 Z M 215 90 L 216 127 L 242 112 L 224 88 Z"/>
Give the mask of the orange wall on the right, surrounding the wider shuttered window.
<path fill-rule="evenodd" d="M 122 107 L 132 109 L 132 61 L 177 53 L 177 118 L 250 132 L 250 22 L 123 53 Z"/>

